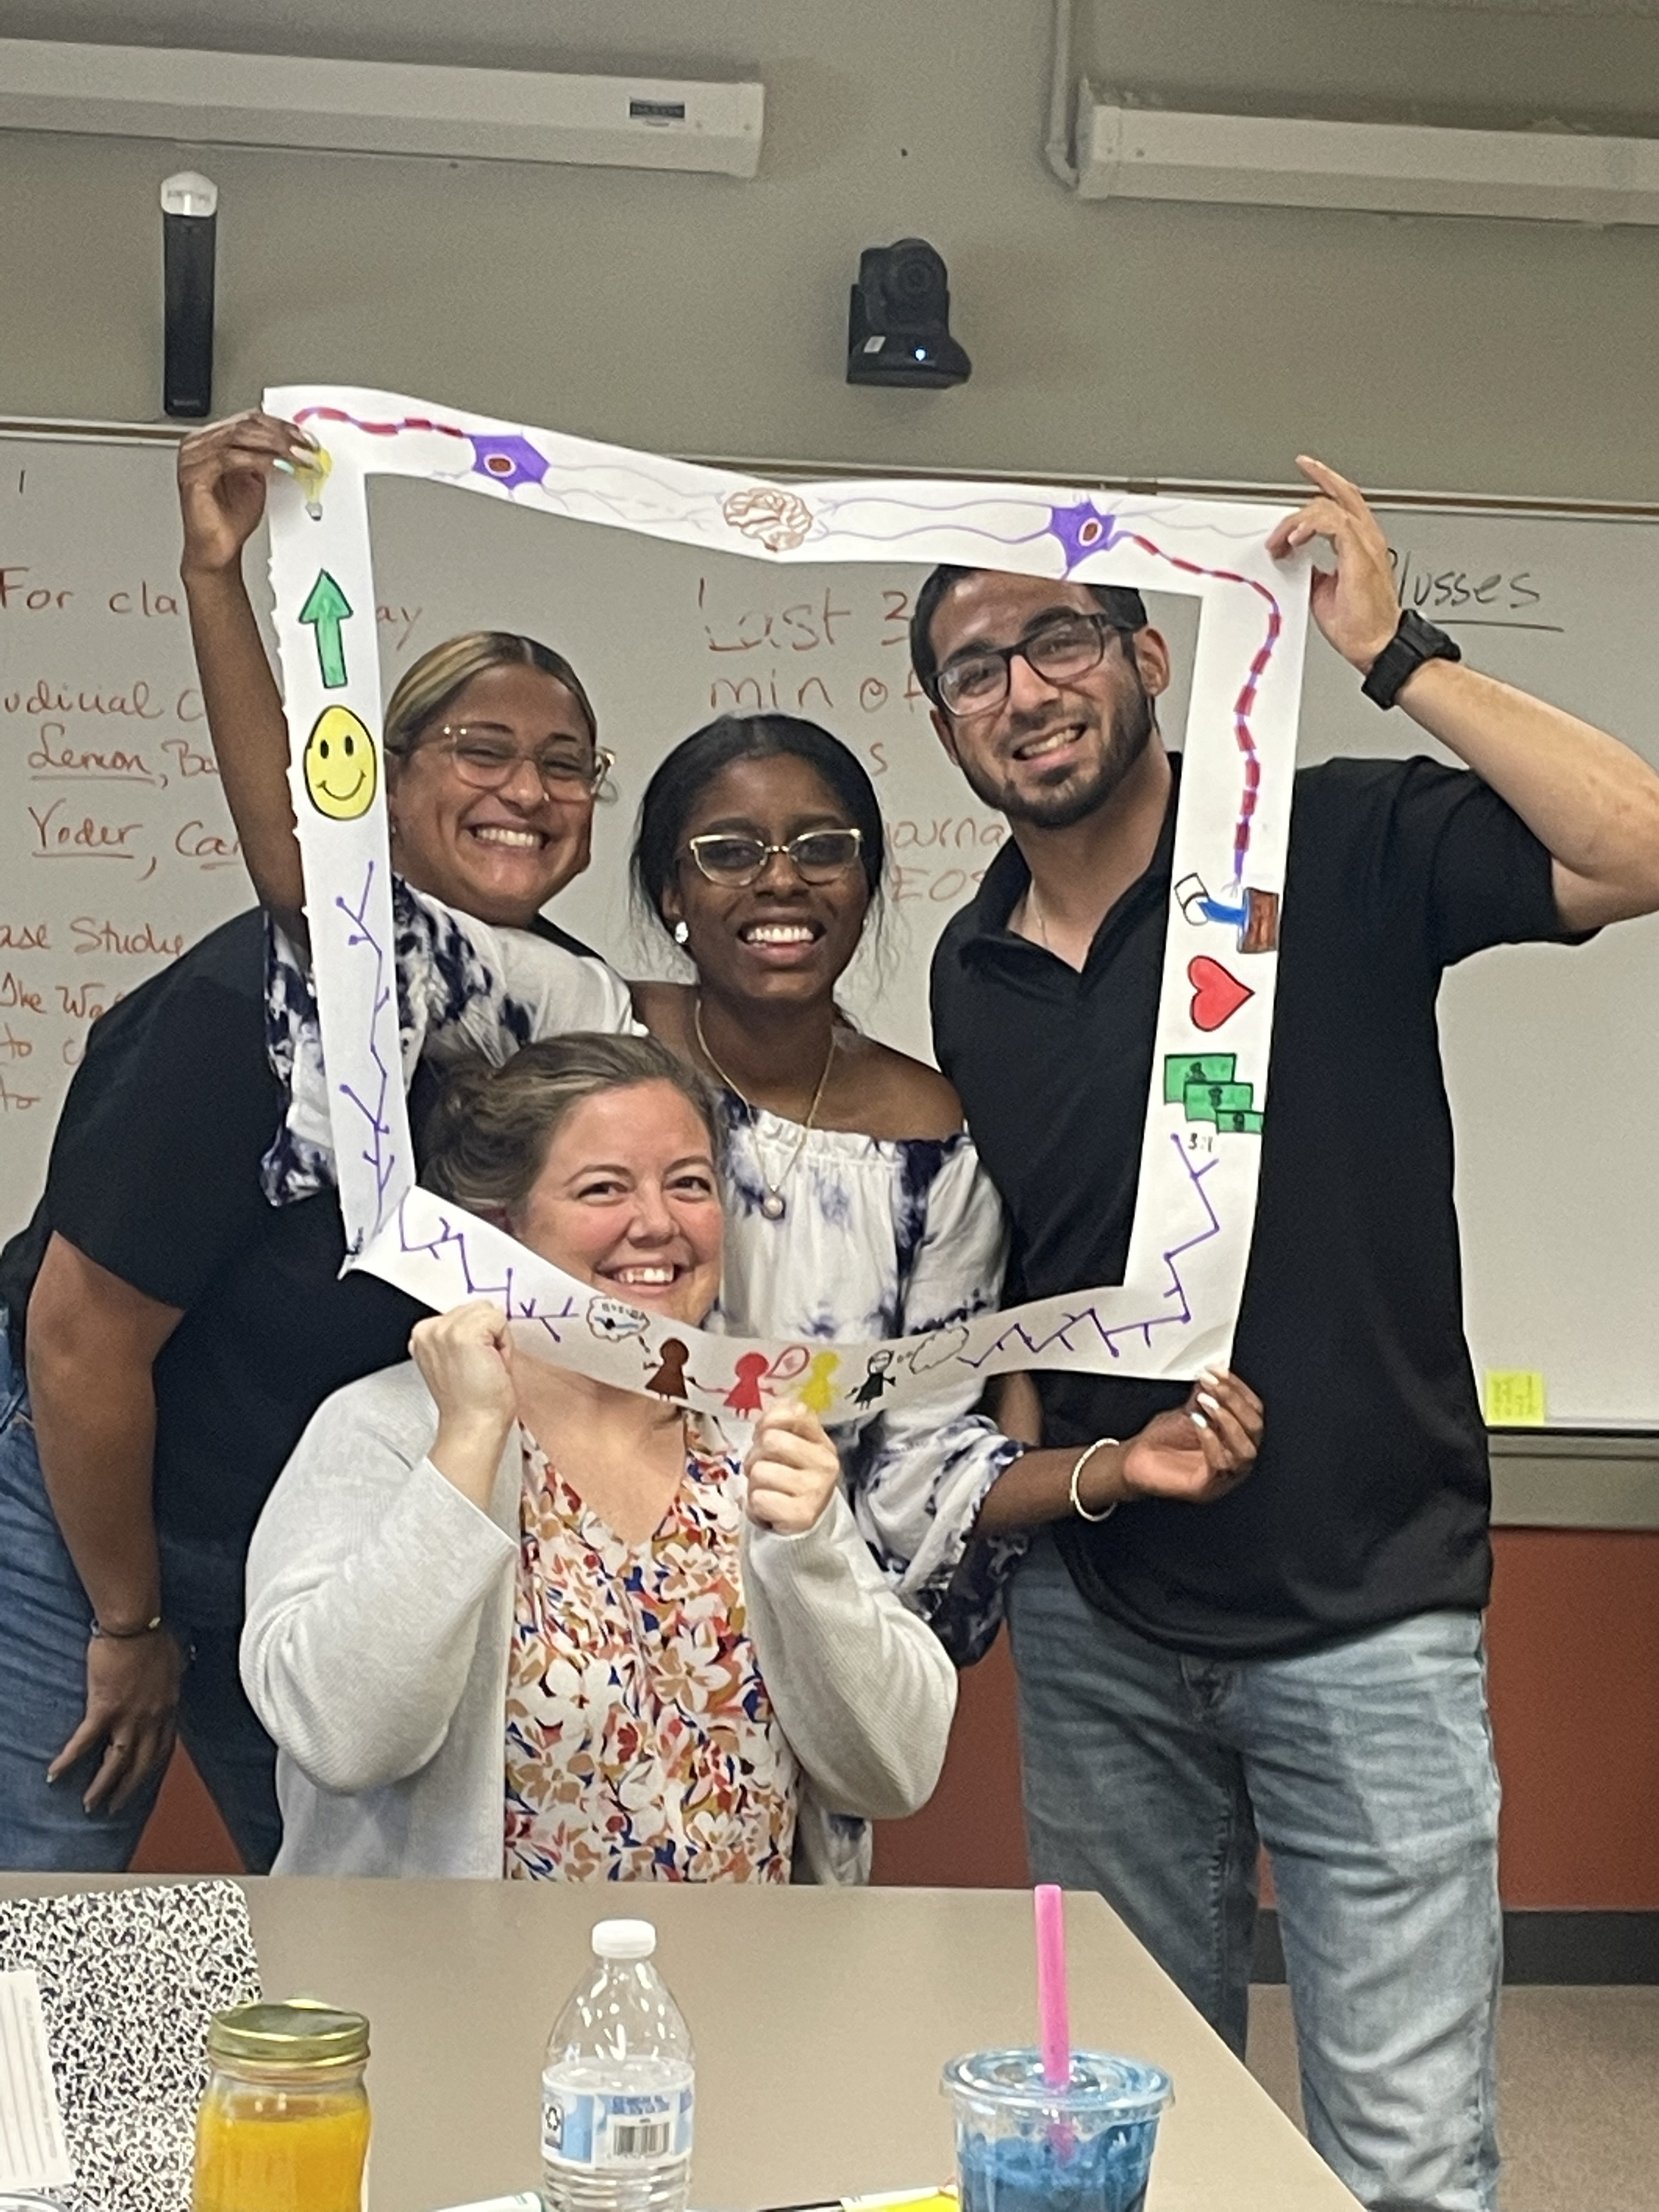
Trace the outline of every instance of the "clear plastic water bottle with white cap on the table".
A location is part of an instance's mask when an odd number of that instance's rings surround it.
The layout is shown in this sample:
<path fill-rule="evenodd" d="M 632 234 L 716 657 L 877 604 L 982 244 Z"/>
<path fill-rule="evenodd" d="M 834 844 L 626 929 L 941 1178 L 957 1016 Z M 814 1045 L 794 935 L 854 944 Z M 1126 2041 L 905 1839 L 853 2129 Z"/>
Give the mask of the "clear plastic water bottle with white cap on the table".
<path fill-rule="evenodd" d="M 599 1920 L 593 1973 L 546 2039 L 549 2212 L 686 2212 L 692 2046 L 650 1964 L 655 1949 L 648 1920 Z"/>

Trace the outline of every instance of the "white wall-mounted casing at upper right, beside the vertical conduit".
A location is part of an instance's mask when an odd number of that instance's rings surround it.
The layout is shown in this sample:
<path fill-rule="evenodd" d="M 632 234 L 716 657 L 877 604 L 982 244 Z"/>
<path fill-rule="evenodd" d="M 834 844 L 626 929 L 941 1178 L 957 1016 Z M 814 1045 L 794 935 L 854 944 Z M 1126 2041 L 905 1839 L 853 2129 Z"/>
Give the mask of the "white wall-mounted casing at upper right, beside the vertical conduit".
<path fill-rule="evenodd" d="M 1082 84 L 1077 197 L 1659 223 L 1659 139 L 1172 115 Z"/>

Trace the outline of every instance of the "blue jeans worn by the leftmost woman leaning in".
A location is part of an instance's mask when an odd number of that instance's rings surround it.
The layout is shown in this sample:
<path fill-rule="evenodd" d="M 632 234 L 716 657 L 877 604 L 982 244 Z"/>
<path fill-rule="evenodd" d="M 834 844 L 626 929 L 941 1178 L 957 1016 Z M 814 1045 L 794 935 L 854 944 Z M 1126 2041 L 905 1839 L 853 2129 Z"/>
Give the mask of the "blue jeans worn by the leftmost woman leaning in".
<path fill-rule="evenodd" d="M 192 1652 L 179 1683 L 179 1736 L 248 1871 L 263 1874 L 283 1829 L 276 1747 L 237 1670 L 243 1553 L 164 1540 L 161 1606 Z M 157 1772 L 119 1812 L 84 1812 L 102 1747 L 46 1783 L 49 1763 L 86 1712 L 91 1617 L 46 1500 L 29 1391 L 0 1314 L 0 1867 L 119 1874 L 161 1790 Z"/>

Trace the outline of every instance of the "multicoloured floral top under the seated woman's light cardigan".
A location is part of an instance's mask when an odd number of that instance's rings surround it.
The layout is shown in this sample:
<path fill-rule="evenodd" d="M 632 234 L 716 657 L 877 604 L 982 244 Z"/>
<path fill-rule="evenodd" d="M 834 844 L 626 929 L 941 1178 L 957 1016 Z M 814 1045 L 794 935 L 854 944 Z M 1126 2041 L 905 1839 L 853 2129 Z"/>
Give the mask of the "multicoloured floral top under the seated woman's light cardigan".
<path fill-rule="evenodd" d="M 787 1882 L 799 1776 L 745 1624 L 737 1460 L 688 1449 L 624 1544 L 522 1447 L 504 1871 Z"/>

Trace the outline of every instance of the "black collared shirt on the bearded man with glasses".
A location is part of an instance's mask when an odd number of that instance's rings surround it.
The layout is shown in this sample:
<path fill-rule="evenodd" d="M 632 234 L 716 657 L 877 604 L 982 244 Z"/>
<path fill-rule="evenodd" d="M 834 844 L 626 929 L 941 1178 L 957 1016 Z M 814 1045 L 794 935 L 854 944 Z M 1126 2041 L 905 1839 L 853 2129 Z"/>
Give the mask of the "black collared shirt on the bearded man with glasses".
<path fill-rule="evenodd" d="M 1029 880 L 1013 845 L 933 956 L 938 1060 L 1013 1221 L 1009 1303 L 1124 1279 L 1172 841 L 1175 799 L 1082 973 L 1009 931 Z M 1491 1482 L 1436 993 L 1486 945 L 1562 936 L 1546 849 L 1475 776 L 1420 759 L 1298 772 L 1232 1349 L 1265 1440 L 1214 1506 L 1141 1500 L 1099 1528 L 1060 1522 L 1091 1604 L 1219 1657 L 1484 1606 Z M 1082 1374 L 1037 1387 L 1044 1438 L 1062 1447 L 1133 1436 L 1186 1396 Z"/>

